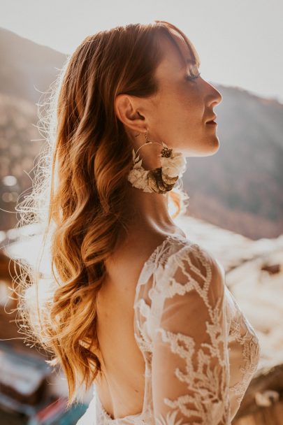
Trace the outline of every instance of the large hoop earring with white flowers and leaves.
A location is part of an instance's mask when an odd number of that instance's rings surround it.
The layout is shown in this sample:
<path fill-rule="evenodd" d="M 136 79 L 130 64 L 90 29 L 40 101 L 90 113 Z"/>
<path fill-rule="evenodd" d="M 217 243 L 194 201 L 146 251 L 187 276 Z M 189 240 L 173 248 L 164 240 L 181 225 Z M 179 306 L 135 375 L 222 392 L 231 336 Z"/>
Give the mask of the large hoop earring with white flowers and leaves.
<path fill-rule="evenodd" d="M 152 170 L 145 170 L 142 166 L 143 159 L 140 159 L 138 151 L 141 147 L 152 143 L 163 146 L 161 154 L 158 155 L 161 166 Z M 170 149 L 164 142 L 150 141 L 147 130 L 145 133 L 145 143 L 136 152 L 133 149 L 133 166 L 129 172 L 128 180 L 133 187 L 142 189 L 143 192 L 166 194 L 166 192 L 173 189 L 178 178 L 182 176 L 185 170 L 186 159 L 182 152 L 175 152 L 173 148 Z"/>

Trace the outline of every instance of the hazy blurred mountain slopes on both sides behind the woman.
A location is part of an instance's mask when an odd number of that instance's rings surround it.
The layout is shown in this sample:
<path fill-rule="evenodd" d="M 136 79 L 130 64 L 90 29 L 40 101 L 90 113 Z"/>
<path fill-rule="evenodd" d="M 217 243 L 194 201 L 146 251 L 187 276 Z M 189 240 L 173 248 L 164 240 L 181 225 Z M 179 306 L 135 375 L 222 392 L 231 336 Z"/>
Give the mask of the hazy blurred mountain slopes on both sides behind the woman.
<path fill-rule="evenodd" d="M 36 103 L 67 55 L 6 29 L 0 29 L 0 54 L 0 206 L 13 210 L 31 187 L 44 143 Z M 187 213 L 254 240 L 275 238 L 283 233 L 283 105 L 237 87 L 215 87 L 223 98 L 215 109 L 220 147 L 211 157 L 187 159 Z M 2 230 L 15 224 L 13 214 L 1 211 L 0 219 Z"/>

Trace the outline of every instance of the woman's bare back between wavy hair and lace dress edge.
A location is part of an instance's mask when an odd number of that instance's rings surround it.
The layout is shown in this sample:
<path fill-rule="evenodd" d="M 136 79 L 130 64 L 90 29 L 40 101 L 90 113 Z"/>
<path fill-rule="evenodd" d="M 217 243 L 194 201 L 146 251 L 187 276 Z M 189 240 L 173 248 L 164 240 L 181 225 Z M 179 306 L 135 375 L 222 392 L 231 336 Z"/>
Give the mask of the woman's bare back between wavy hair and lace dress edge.
<path fill-rule="evenodd" d="M 180 229 L 175 233 L 184 236 Z M 108 273 L 97 298 L 103 377 L 96 380 L 96 389 L 112 418 L 136 415 L 143 408 L 145 360 L 133 333 L 133 302 L 140 271 L 166 236 L 136 235 L 106 262 Z"/>

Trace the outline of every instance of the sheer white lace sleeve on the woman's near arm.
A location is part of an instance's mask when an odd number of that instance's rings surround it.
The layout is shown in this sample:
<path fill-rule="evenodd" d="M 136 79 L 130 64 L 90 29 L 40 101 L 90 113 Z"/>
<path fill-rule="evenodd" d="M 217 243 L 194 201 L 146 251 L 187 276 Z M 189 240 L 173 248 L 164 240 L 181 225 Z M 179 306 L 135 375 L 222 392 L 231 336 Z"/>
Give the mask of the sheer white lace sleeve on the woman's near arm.
<path fill-rule="evenodd" d="M 164 304 L 152 346 L 154 419 L 157 425 L 228 425 L 224 272 L 196 244 L 178 252 L 172 268 L 160 289 Z"/>

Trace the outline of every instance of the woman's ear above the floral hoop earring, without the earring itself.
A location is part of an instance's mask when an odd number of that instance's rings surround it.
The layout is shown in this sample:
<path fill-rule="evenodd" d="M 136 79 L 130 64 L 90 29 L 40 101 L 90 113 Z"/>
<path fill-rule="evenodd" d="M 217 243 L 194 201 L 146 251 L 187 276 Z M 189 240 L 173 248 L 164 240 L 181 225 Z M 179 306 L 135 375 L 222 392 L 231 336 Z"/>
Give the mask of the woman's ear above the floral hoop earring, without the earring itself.
<path fill-rule="evenodd" d="M 136 99 L 128 94 L 118 94 L 114 103 L 117 118 L 129 129 L 145 131 L 145 117 L 138 111 Z"/>

